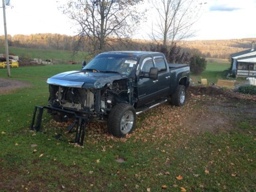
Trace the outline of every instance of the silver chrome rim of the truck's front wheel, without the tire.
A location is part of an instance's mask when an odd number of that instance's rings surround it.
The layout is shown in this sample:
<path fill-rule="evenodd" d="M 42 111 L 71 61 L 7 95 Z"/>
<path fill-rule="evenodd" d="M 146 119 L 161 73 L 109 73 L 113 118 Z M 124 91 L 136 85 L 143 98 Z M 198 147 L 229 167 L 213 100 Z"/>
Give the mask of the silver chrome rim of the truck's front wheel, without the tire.
<path fill-rule="evenodd" d="M 120 130 L 122 134 L 127 134 L 131 131 L 134 123 L 134 114 L 132 111 L 126 111 L 120 122 Z"/>

